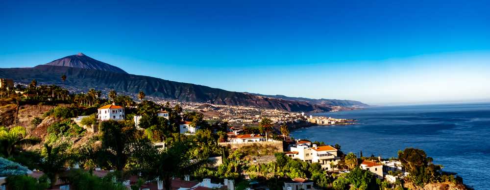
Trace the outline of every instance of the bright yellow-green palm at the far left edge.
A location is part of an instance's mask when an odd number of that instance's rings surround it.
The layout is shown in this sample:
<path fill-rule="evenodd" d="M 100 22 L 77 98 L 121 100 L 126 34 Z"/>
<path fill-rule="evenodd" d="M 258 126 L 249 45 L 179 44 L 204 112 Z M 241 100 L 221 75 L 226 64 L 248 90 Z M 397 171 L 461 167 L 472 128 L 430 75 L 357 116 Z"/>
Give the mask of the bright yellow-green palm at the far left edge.
<path fill-rule="evenodd" d="M 12 149 L 15 146 L 35 145 L 41 142 L 37 137 L 23 139 L 25 137 L 25 129 L 21 126 L 14 127 L 10 130 L 5 127 L 0 127 L 0 142 L 6 142 L 7 157 L 10 156 Z"/>

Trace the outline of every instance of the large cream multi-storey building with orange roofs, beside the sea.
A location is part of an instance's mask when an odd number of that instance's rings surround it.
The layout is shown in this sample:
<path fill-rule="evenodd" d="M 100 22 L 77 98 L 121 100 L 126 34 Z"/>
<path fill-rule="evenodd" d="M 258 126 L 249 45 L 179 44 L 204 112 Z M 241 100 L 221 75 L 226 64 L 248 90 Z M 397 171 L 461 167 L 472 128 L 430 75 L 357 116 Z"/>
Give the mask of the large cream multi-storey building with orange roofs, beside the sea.
<path fill-rule="evenodd" d="M 311 142 L 296 142 L 288 147 L 287 154 L 289 157 L 297 158 L 308 163 L 320 163 L 321 168 L 324 170 L 332 170 L 330 162 L 335 165 L 340 161 L 340 157 L 337 156 L 338 150 L 332 146 L 317 146 Z"/>

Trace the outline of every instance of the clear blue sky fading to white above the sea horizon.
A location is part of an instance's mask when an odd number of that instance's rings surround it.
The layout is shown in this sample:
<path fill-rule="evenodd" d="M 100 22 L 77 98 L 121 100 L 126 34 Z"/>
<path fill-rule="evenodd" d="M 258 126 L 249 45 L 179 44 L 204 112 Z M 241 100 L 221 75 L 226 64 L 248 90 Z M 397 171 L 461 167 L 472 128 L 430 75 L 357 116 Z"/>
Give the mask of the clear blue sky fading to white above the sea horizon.
<path fill-rule="evenodd" d="M 82 52 L 238 92 L 490 101 L 489 0 L 0 2 L 0 67 Z"/>

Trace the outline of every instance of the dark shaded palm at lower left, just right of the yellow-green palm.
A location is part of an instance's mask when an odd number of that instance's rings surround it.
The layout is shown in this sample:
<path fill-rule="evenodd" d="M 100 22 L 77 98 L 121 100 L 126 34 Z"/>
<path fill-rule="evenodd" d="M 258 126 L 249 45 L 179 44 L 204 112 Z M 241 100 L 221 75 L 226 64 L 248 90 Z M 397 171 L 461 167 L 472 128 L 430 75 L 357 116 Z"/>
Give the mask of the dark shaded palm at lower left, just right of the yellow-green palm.
<path fill-rule="evenodd" d="M 56 181 L 58 181 L 58 175 L 62 172 L 61 168 L 73 164 L 76 160 L 75 155 L 65 152 L 67 148 L 68 144 L 66 143 L 55 147 L 48 145 L 48 143 L 44 144 L 45 158 L 40 161 L 39 166 L 40 170 L 49 178 L 49 189 L 53 189 Z"/>

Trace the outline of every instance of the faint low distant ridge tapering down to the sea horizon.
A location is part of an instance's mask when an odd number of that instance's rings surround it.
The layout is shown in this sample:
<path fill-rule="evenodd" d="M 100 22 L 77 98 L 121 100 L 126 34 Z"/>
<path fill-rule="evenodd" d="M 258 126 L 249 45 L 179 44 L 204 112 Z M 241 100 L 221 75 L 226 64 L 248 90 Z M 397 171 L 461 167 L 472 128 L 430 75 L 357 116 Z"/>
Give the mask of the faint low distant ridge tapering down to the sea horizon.
<path fill-rule="evenodd" d="M 261 94 L 253 94 L 253 95 L 280 98 L 284 100 L 299 101 L 299 102 L 306 102 L 310 104 L 319 104 L 319 105 L 342 106 L 342 107 L 370 107 L 370 105 L 368 104 L 362 103 L 360 101 L 353 101 L 353 100 L 323 99 L 323 98 L 311 99 L 311 98 L 304 98 L 304 97 L 288 97 L 285 95 L 261 95 Z"/>

